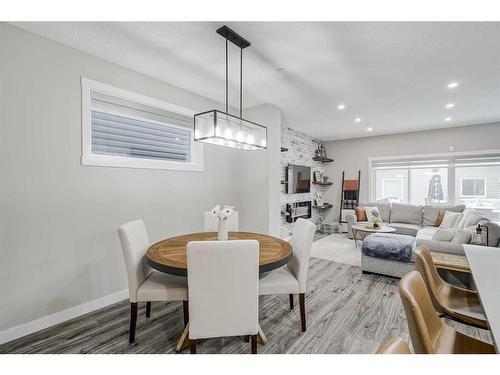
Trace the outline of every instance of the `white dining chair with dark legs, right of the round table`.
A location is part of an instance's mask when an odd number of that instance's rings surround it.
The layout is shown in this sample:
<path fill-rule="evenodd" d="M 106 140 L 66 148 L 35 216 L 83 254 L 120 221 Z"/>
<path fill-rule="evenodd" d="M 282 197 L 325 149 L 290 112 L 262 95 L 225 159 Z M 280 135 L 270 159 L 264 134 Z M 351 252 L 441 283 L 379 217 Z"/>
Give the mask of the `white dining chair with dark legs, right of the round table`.
<path fill-rule="evenodd" d="M 293 254 L 290 262 L 277 270 L 260 276 L 259 294 L 288 294 L 290 309 L 293 309 L 293 295 L 299 295 L 300 321 L 302 332 L 306 331 L 305 293 L 307 286 L 307 269 L 311 245 L 316 226 L 309 220 L 299 218 L 295 222 L 290 244 Z"/>

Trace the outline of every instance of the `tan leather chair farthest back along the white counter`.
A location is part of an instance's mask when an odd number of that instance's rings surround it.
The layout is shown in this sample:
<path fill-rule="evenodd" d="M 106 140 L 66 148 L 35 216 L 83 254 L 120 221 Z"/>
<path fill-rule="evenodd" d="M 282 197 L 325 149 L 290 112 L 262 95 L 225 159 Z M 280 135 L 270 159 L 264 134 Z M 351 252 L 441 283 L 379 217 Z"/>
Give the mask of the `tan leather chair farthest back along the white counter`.
<path fill-rule="evenodd" d="M 477 292 L 462 289 L 444 281 L 437 272 L 426 246 L 413 250 L 415 266 L 422 275 L 436 311 L 450 319 L 475 327 L 488 329 L 486 316 Z"/>

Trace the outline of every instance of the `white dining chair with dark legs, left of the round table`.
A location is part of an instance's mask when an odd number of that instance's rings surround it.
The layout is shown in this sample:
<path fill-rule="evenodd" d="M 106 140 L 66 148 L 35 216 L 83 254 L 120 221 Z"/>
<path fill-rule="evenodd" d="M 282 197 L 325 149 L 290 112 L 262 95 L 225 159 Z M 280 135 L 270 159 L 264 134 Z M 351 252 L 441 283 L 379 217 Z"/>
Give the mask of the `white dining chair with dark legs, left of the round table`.
<path fill-rule="evenodd" d="M 187 316 L 187 280 L 182 276 L 152 270 L 146 264 L 146 251 L 150 246 L 148 233 L 142 220 L 135 220 L 118 228 L 118 237 L 125 258 L 130 299 L 129 342 L 135 341 L 139 302 L 146 302 L 146 317 L 151 314 L 152 301 L 183 301 L 184 325 Z"/>

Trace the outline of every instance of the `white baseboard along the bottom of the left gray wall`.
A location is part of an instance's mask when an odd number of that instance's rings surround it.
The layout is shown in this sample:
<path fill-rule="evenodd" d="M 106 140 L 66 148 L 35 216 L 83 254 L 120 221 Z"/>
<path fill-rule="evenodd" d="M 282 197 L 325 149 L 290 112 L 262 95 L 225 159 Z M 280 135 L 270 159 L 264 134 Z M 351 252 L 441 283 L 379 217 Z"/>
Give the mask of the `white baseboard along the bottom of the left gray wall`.
<path fill-rule="evenodd" d="M 112 305 L 113 303 L 123 301 L 128 298 L 128 289 L 95 299 L 90 302 L 82 303 L 69 309 L 56 312 L 42 318 L 23 323 L 18 326 L 8 328 L 0 332 L 0 344 L 15 340 L 19 337 L 29 335 L 30 333 L 40 331 L 53 325 L 65 322 L 66 320 L 76 318 L 89 312 Z"/>

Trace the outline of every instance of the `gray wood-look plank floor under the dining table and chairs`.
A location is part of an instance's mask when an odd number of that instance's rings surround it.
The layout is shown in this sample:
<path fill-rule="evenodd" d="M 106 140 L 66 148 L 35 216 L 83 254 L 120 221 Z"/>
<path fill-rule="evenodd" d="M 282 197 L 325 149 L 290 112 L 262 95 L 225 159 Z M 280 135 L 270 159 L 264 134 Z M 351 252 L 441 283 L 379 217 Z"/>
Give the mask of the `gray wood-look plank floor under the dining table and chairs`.
<path fill-rule="evenodd" d="M 363 275 L 357 267 L 312 258 L 306 296 L 307 332 L 288 296 L 260 298 L 268 343 L 259 353 L 373 353 L 392 336 L 409 339 L 398 279 Z M 144 304 L 145 305 L 145 304 Z M 139 309 L 135 344 L 128 343 L 129 303 L 123 301 L 0 346 L 0 353 L 174 353 L 182 330 L 182 303 Z M 447 322 L 491 342 L 487 331 Z M 198 353 L 249 353 L 240 338 L 203 340 Z M 189 353 L 186 350 L 185 353 Z"/>

